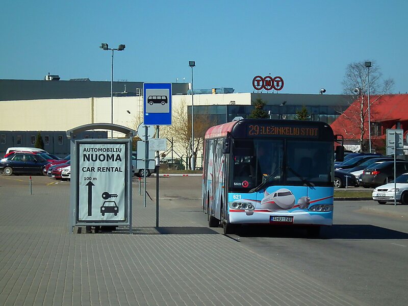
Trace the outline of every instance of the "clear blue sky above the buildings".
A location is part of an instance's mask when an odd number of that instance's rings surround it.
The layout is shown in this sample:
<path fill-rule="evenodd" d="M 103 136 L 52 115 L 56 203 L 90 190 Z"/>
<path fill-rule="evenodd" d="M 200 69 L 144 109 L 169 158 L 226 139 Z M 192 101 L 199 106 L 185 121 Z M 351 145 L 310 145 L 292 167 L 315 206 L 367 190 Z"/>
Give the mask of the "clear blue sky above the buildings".
<path fill-rule="evenodd" d="M 408 2 L 32 1 L 0 4 L 0 79 L 191 82 L 252 92 L 280 75 L 282 93 L 342 93 L 347 64 L 376 61 L 408 91 Z"/>

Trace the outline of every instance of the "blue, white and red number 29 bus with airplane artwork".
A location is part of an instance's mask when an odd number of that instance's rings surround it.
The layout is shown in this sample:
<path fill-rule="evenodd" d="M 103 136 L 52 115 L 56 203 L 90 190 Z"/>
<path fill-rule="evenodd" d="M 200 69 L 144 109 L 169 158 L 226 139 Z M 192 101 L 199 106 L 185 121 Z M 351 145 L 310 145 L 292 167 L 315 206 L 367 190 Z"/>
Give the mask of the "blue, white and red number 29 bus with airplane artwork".
<path fill-rule="evenodd" d="M 318 236 L 321 225 L 333 224 L 336 142 L 319 121 L 241 119 L 210 127 L 202 185 L 209 226 L 233 234 L 240 224 L 307 225 Z M 336 155 L 344 156 L 342 145 Z"/>

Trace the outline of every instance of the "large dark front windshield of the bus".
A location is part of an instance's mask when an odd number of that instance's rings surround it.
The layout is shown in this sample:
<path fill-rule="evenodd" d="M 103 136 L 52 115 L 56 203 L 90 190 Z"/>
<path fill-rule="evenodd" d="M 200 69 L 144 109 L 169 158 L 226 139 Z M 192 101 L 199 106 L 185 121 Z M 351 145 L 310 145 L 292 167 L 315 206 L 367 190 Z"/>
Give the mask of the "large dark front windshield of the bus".
<path fill-rule="evenodd" d="M 240 192 L 273 185 L 333 186 L 330 155 L 332 142 L 234 139 L 229 186 Z"/>

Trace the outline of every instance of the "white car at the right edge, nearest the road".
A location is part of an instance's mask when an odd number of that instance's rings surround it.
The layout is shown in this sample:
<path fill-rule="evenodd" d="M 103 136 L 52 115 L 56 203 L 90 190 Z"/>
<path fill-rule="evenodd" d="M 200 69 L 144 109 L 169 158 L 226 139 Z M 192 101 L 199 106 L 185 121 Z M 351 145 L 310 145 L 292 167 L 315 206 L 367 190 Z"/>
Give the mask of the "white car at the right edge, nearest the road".
<path fill-rule="evenodd" d="M 398 176 L 396 184 L 389 183 L 376 187 L 373 191 L 373 200 L 379 204 L 394 202 L 394 195 L 397 202 L 408 205 L 408 173 Z"/>

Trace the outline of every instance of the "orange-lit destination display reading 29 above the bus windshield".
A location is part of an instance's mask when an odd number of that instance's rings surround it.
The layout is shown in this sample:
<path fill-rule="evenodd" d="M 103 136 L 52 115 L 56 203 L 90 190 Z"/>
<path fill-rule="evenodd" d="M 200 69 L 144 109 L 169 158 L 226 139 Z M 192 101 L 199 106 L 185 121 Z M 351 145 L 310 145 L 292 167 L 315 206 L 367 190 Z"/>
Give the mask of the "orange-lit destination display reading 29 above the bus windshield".
<path fill-rule="evenodd" d="M 273 136 L 289 136 L 289 137 L 305 137 L 318 138 L 319 129 L 310 126 L 285 126 L 274 124 L 248 124 L 246 126 L 246 135 L 252 137 L 273 137 Z"/>

